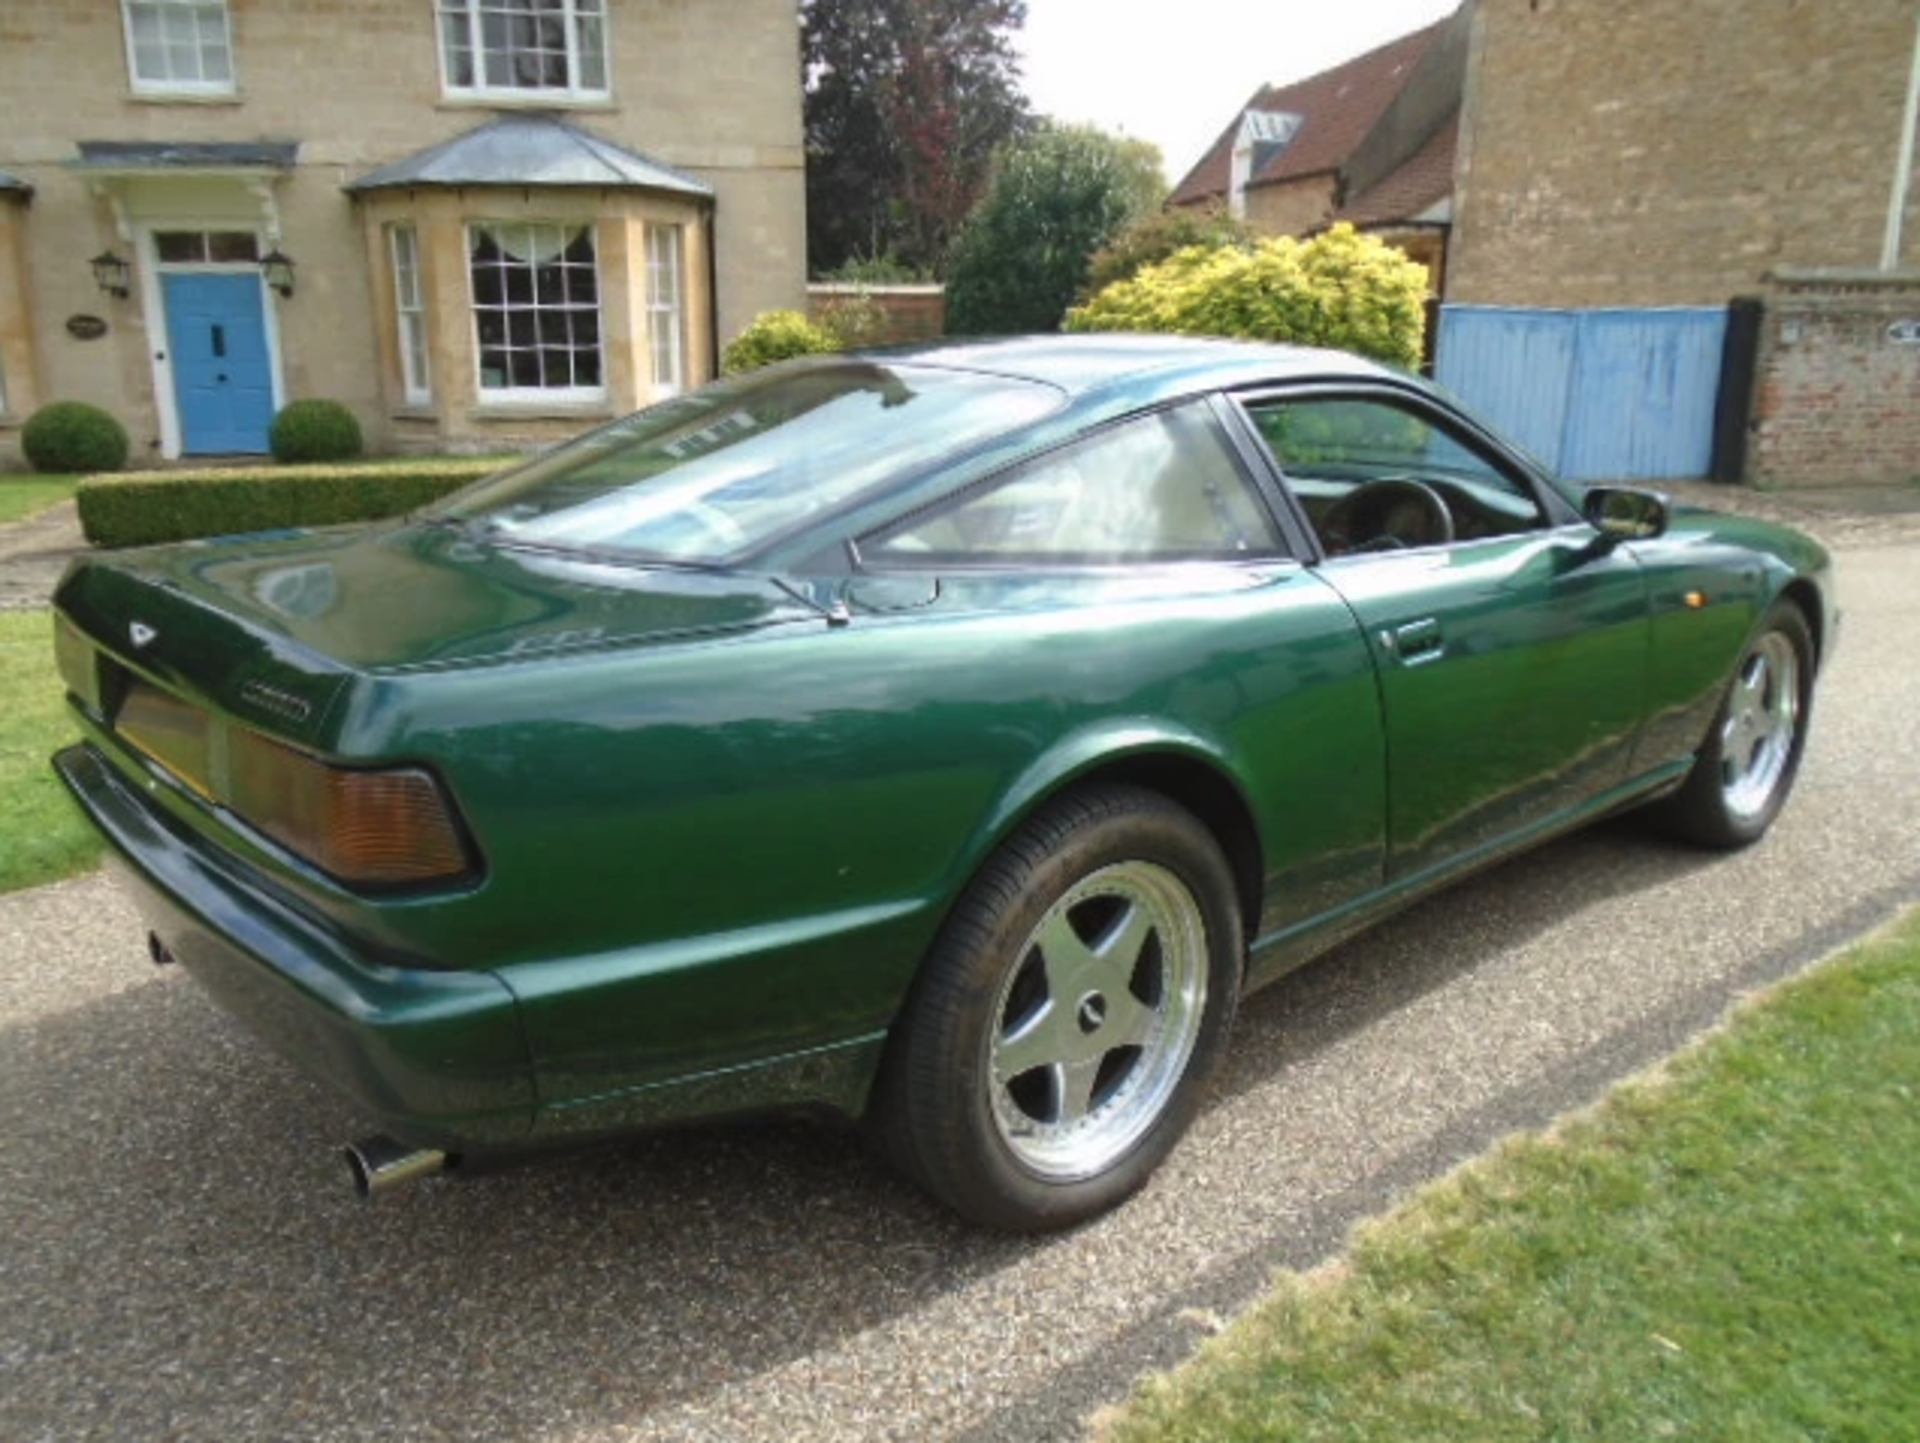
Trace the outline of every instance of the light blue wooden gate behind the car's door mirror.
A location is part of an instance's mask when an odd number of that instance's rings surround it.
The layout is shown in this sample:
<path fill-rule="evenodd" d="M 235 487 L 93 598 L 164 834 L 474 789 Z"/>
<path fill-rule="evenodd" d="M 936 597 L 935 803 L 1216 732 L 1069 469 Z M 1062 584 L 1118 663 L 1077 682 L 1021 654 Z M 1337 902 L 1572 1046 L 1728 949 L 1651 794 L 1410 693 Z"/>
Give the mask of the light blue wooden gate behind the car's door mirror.
<path fill-rule="evenodd" d="M 1442 305 L 1434 378 L 1574 482 L 1705 476 L 1724 307 Z"/>

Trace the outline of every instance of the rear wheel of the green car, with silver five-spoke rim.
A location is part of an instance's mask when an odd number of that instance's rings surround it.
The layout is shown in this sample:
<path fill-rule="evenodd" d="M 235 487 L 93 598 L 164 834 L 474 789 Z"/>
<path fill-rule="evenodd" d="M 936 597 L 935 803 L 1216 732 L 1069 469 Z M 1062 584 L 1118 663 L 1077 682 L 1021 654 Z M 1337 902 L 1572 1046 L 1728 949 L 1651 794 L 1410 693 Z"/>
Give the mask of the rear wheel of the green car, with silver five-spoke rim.
<path fill-rule="evenodd" d="M 1233 873 L 1158 792 L 1096 787 L 981 867 L 889 1044 L 876 1126 L 962 1217 L 1064 1228 L 1146 1182 L 1219 1061 L 1240 990 Z"/>

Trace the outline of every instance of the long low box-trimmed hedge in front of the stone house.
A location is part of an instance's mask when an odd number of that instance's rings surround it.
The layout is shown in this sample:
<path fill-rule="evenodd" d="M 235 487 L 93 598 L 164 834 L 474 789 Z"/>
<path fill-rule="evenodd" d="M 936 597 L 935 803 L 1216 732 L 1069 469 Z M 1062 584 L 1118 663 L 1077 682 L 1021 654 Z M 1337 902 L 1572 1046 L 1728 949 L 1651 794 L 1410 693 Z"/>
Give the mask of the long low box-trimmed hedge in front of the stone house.
<path fill-rule="evenodd" d="M 409 457 L 336 466 L 244 466 L 88 476 L 75 501 L 96 547 L 338 526 L 399 516 L 499 470 L 507 457 Z"/>

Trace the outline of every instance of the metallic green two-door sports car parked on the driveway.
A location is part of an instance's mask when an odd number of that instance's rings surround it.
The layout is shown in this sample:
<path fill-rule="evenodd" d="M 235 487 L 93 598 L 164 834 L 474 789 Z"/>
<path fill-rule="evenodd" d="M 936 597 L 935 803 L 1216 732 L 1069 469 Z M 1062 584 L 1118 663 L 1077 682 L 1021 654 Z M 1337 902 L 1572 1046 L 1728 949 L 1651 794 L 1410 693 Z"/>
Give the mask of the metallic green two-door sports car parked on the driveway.
<path fill-rule="evenodd" d="M 820 357 L 363 528 L 96 555 L 56 764 L 363 1190 L 862 1119 L 977 1222 L 1175 1146 L 1236 1000 L 1626 806 L 1793 785 L 1826 553 L 1346 355 Z"/>

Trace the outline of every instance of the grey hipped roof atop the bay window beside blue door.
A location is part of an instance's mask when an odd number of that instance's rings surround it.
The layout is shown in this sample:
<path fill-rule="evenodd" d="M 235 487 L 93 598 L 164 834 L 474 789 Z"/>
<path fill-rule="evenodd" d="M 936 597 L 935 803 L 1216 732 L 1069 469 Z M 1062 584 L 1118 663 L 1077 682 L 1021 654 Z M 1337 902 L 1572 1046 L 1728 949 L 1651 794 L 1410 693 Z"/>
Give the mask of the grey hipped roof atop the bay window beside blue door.
<path fill-rule="evenodd" d="M 369 171 L 348 190 L 394 186 L 609 186 L 712 196 L 712 186 L 557 115 L 501 115 Z"/>

